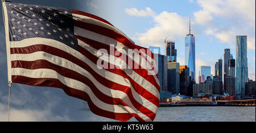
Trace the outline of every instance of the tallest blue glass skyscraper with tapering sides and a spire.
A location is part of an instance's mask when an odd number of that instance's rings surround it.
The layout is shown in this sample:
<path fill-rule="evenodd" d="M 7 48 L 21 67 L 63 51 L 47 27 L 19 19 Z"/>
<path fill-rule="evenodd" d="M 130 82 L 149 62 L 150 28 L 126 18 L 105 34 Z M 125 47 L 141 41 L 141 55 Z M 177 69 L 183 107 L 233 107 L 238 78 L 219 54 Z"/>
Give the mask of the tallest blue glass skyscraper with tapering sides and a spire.
<path fill-rule="evenodd" d="M 189 76 L 191 80 L 195 80 L 195 36 L 191 34 L 190 18 L 189 18 L 189 34 L 185 36 L 185 65 L 189 67 Z"/>

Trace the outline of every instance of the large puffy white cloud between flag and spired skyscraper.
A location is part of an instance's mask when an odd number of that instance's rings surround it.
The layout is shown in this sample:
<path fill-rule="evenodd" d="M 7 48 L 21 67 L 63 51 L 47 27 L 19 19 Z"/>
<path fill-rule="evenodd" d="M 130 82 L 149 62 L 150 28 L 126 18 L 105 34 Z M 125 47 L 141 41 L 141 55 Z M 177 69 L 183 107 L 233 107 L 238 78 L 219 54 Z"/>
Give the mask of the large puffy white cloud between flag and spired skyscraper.
<path fill-rule="evenodd" d="M 188 18 L 178 15 L 177 13 L 168 13 L 163 11 L 153 17 L 155 26 L 149 28 L 144 33 L 137 33 L 133 38 L 137 44 L 143 47 L 154 45 L 164 47 L 164 39 L 178 40 L 184 38 L 188 31 Z"/>

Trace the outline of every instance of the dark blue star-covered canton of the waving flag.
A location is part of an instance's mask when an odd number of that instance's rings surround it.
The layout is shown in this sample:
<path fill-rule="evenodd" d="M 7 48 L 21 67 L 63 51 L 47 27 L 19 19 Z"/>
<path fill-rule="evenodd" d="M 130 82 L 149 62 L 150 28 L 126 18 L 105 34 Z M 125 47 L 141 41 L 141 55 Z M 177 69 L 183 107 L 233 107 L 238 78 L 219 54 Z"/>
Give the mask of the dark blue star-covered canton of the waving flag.
<path fill-rule="evenodd" d="M 20 3 L 9 3 L 6 7 L 10 41 L 48 38 L 78 49 L 72 10 Z"/>

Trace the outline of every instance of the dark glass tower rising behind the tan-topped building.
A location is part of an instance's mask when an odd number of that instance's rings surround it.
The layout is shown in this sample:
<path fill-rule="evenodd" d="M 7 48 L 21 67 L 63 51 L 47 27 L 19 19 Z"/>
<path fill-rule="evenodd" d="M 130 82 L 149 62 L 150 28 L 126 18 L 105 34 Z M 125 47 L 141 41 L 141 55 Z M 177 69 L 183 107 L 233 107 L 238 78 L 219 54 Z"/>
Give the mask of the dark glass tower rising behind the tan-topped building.
<path fill-rule="evenodd" d="M 167 56 L 167 61 L 171 61 L 171 62 L 177 61 L 177 49 L 175 49 L 174 41 L 166 41 L 166 56 Z"/>

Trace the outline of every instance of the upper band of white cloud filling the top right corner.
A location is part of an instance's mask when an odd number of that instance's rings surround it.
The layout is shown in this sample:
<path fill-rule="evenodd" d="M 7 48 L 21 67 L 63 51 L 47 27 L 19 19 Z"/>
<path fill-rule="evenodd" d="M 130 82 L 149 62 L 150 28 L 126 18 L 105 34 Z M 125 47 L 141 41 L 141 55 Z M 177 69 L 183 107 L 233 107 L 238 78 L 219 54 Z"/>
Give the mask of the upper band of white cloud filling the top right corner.
<path fill-rule="evenodd" d="M 247 23 L 255 29 L 254 0 L 197 0 L 203 10 L 198 11 L 210 16 L 218 16 L 237 23 Z M 195 15 L 195 14 L 194 14 Z M 238 19 L 240 18 L 240 20 Z"/>

